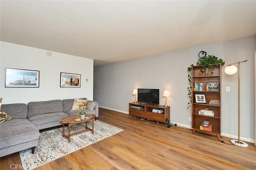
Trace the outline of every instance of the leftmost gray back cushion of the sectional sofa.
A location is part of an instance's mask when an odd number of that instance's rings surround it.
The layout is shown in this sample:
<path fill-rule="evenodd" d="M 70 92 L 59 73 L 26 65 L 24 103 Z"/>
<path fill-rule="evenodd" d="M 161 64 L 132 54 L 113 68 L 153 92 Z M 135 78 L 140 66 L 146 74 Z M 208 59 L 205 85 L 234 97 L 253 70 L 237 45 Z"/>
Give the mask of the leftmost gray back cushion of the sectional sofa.
<path fill-rule="evenodd" d="M 28 117 L 27 104 L 2 104 L 1 110 L 8 113 L 12 119 Z"/>

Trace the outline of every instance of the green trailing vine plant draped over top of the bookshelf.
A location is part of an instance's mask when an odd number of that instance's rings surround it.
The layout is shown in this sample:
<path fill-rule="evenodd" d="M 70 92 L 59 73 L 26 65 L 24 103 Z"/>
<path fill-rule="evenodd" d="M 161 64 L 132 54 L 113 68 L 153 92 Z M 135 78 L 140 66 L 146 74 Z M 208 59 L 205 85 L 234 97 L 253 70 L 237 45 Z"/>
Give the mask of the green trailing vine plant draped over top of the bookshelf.
<path fill-rule="evenodd" d="M 202 54 L 203 56 L 200 56 L 200 54 Z M 222 59 L 218 59 L 217 57 L 215 57 L 214 55 L 208 55 L 206 57 L 207 53 L 205 51 L 200 51 L 198 56 L 199 59 L 196 63 L 196 65 L 200 66 L 202 65 L 202 69 L 200 70 L 200 72 L 204 73 L 206 68 L 208 68 L 208 70 L 210 70 L 210 75 L 212 75 L 213 73 L 213 69 L 214 69 L 214 64 L 216 64 L 216 66 L 221 65 L 224 66 L 225 61 L 223 61 Z M 191 64 L 190 67 L 188 67 L 188 82 L 189 82 L 189 87 L 188 89 L 188 97 L 189 97 L 189 102 L 188 102 L 188 107 L 187 109 L 189 109 L 191 107 L 191 103 L 192 103 L 192 67 L 194 65 Z"/>

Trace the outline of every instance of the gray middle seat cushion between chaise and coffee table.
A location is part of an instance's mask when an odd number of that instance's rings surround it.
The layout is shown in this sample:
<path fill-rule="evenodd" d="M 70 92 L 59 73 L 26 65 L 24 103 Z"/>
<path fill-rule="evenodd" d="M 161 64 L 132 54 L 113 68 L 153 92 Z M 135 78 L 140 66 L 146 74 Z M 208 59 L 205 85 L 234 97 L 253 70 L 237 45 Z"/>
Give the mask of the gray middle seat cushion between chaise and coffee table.
<path fill-rule="evenodd" d="M 33 115 L 28 117 L 28 119 L 34 125 L 42 125 L 45 123 L 58 122 L 60 119 L 68 117 L 68 114 L 64 112 L 54 112 L 54 113 L 44 113 L 40 115 Z"/>

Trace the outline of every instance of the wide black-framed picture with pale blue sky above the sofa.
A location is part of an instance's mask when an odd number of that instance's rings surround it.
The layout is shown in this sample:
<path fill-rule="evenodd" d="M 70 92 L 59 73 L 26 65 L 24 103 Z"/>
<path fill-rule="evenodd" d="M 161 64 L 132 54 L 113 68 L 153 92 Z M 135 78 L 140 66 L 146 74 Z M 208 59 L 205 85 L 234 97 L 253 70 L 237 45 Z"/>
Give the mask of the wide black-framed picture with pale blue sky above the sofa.
<path fill-rule="evenodd" d="M 39 71 L 5 68 L 4 87 L 39 87 Z"/>

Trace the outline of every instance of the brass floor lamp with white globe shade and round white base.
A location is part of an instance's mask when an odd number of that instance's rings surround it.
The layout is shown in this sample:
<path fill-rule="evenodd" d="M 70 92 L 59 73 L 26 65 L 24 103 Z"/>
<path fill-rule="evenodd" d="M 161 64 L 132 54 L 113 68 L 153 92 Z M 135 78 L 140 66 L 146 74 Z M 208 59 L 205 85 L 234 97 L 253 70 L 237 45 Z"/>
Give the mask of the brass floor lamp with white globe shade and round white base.
<path fill-rule="evenodd" d="M 238 61 L 236 63 L 228 64 L 224 70 L 226 74 L 233 75 L 237 71 L 237 68 L 234 66 L 234 64 L 238 63 L 238 140 L 231 140 L 231 143 L 239 147 L 248 147 L 247 143 L 240 141 L 240 63 L 245 61 Z"/>

